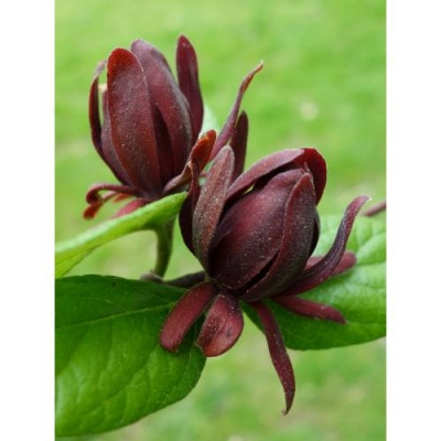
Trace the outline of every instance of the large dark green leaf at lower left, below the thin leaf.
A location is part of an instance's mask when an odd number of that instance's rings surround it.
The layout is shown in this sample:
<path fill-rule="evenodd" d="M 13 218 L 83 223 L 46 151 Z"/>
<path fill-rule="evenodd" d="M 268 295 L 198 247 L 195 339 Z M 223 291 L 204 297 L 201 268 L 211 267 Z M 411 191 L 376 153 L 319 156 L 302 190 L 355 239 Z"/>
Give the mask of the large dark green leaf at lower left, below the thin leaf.
<path fill-rule="evenodd" d="M 183 291 L 115 277 L 55 281 L 56 435 L 114 430 L 185 397 L 205 365 L 191 331 L 175 354 L 159 344 Z"/>

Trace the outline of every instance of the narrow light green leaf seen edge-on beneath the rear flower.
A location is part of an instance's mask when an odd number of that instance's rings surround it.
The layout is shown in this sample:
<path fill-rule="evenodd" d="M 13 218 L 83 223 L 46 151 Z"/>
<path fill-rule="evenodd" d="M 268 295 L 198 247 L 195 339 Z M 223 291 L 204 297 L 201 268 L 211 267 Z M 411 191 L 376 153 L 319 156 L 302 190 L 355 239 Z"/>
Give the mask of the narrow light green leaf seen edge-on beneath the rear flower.
<path fill-rule="evenodd" d="M 126 216 L 106 220 L 73 239 L 57 244 L 55 277 L 64 276 L 94 249 L 110 240 L 141 229 L 157 229 L 164 225 L 176 216 L 185 196 L 186 193 L 172 194 Z"/>

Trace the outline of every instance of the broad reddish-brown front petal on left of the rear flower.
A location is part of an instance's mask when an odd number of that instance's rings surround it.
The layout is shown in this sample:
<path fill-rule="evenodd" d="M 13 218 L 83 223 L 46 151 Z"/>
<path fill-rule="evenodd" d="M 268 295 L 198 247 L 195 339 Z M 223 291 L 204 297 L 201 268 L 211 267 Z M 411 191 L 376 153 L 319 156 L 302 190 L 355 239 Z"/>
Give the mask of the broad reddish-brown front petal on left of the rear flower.
<path fill-rule="evenodd" d="M 117 49 L 110 54 L 107 75 L 116 154 L 132 185 L 159 198 L 162 186 L 157 142 L 142 68 L 131 52 Z"/>

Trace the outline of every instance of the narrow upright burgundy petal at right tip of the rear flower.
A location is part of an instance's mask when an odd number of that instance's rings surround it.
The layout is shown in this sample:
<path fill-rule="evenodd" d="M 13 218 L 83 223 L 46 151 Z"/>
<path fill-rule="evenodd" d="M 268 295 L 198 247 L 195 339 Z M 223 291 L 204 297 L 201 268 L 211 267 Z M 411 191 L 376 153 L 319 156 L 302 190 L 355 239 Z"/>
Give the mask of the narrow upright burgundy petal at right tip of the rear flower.
<path fill-rule="evenodd" d="M 202 129 L 204 103 L 202 99 L 197 73 L 196 52 L 184 35 L 181 35 L 178 40 L 176 71 L 180 89 L 190 105 L 193 127 L 192 143 L 194 143 Z"/>

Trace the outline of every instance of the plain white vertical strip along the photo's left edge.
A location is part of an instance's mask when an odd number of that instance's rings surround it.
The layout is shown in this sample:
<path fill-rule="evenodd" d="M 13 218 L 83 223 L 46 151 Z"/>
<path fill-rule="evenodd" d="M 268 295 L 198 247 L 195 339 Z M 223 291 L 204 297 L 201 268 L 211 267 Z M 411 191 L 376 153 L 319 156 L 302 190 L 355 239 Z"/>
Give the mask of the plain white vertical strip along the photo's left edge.
<path fill-rule="evenodd" d="M 0 7 L 2 438 L 53 438 L 54 4 Z"/>

